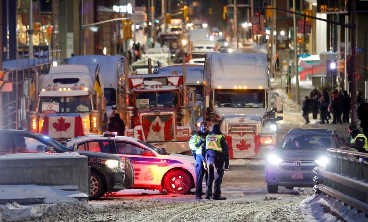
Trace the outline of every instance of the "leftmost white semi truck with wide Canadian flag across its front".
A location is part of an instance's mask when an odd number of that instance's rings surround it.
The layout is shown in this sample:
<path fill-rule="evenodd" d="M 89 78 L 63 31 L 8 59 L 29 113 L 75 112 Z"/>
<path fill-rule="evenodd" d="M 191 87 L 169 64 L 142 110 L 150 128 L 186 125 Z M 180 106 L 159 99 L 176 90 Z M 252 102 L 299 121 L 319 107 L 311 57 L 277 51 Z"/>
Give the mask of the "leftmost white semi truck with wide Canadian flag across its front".
<path fill-rule="evenodd" d="M 105 98 L 95 91 L 99 66 L 60 65 L 37 78 L 36 99 L 27 112 L 28 130 L 57 140 L 102 134 Z M 30 102 L 28 102 L 30 104 Z"/>

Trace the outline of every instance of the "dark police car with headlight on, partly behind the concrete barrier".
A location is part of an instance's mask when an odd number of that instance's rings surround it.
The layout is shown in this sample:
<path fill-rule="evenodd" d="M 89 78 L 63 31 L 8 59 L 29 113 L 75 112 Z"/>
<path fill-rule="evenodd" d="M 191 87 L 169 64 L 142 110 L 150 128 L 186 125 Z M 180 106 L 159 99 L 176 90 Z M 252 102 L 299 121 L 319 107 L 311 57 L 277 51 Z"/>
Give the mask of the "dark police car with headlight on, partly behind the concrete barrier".
<path fill-rule="evenodd" d="M 0 155 L 33 152 L 73 152 L 63 144 L 40 133 L 23 130 L 0 130 Z M 89 151 L 76 151 L 88 157 L 91 168 L 91 200 L 102 197 L 106 192 L 116 192 L 130 188 L 134 184 L 134 170 L 131 160 L 124 165 L 120 158 Z M 112 163 L 112 164 L 111 164 Z"/>

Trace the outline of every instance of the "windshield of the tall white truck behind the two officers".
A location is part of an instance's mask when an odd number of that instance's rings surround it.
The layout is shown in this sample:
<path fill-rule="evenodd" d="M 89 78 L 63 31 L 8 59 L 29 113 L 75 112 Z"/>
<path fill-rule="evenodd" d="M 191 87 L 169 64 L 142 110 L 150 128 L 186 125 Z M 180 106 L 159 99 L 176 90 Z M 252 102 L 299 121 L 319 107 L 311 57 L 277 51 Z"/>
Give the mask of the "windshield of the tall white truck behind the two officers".
<path fill-rule="evenodd" d="M 215 91 L 216 107 L 264 108 L 265 90 L 221 89 Z"/>

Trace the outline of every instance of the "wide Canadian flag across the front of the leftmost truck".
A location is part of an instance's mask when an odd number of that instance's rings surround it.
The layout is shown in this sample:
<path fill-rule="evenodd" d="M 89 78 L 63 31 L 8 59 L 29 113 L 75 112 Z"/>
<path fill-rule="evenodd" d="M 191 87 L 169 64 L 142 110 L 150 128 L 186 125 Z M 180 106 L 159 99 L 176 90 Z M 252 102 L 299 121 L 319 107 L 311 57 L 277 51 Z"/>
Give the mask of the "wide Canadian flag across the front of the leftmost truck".
<path fill-rule="evenodd" d="M 46 114 L 41 134 L 50 138 L 84 136 L 82 118 L 79 114 Z"/>

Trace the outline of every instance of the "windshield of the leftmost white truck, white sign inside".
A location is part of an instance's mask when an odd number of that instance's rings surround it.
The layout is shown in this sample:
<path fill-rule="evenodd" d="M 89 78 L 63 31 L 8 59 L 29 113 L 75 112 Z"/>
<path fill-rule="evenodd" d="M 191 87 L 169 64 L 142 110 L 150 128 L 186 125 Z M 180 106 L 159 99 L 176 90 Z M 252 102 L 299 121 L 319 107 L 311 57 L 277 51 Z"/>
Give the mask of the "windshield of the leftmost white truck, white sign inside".
<path fill-rule="evenodd" d="M 38 110 L 40 113 L 84 113 L 92 110 L 92 103 L 88 95 L 41 97 Z"/>

